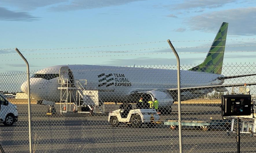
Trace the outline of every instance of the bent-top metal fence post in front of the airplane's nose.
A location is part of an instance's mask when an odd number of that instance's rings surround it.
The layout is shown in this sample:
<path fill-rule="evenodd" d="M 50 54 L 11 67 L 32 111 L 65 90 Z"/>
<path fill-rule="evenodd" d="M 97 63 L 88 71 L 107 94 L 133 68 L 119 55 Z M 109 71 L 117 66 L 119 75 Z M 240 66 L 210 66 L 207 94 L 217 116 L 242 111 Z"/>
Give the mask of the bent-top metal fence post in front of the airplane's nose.
<path fill-rule="evenodd" d="M 30 110 L 30 82 L 29 82 L 29 65 L 26 58 L 20 53 L 18 48 L 15 48 L 16 52 L 25 61 L 27 65 L 27 79 L 28 79 L 28 129 L 29 129 L 29 153 L 32 152 L 32 137 L 31 137 L 31 110 Z"/>

